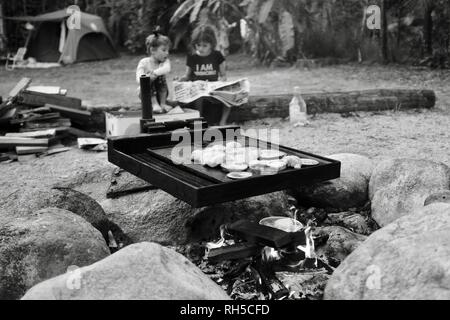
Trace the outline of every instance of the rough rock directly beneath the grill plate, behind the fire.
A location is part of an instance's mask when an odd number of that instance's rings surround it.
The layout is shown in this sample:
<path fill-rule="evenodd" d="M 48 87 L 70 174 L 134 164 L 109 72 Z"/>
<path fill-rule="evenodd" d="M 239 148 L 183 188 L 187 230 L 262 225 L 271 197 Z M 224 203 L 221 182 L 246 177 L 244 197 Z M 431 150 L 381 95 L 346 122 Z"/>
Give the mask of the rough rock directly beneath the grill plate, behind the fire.
<path fill-rule="evenodd" d="M 101 203 L 108 217 L 134 242 L 179 245 L 219 236 L 222 224 L 238 219 L 259 221 L 285 216 L 289 210 L 284 192 L 194 209 L 161 190 L 132 194 Z"/>

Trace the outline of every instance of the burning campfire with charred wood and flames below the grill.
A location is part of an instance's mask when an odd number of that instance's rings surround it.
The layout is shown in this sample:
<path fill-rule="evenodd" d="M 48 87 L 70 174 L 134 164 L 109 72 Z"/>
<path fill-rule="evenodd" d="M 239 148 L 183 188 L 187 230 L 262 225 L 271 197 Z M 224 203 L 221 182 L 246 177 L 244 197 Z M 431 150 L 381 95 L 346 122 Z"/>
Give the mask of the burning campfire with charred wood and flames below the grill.
<path fill-rule="evenodd" d="M 331 275 L 334 271 L 316 256 L 315 242 L 320 239 L 314 239 L 313 230 L 312 223 L 304 226 L 288 217 L 270 217 L 259 223 L 240 220 L 221 227 L 221 239 L 206 244 L 204 258 L 212 265 L 232 264 L 216 279 L 230 295 L 241 279 L 238 285 L 259 293 L 254 298 L 290 299 L 296 292 L 277 274 Z"/>

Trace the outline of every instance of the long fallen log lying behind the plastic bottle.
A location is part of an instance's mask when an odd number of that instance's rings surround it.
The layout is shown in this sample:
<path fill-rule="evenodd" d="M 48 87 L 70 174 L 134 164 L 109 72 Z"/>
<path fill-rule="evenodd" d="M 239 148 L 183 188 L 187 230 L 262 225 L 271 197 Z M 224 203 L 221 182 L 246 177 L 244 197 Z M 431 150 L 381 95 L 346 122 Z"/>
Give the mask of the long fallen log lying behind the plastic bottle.
<path fill-rule="evenodd" d="M 347 113 L 405 109 L 431 109 L 436 103 L 432 90 L 377 89 L 334 93 L 305 93 L 309 114 Z M 231 122 L 289 117 L 291 94 L 250 96 L 246 105 L 232 108 Z"/>

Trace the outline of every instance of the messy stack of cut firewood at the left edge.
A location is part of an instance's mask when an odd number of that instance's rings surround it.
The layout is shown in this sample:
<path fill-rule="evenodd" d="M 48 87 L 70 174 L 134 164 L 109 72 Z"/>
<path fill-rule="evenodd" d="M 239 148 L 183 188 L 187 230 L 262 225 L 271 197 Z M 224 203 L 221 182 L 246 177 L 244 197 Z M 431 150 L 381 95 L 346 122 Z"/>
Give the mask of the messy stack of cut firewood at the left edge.
<path fill-rule="evenodd" d="M 72 127 L 91 119 L 81 100 L 66 96 L 59 87 L 30 87 L 23 78 L 0 104 L 0 162 L 24 161 L 69 150 L 61 141 L 75 137 L 102 137 Z"/>

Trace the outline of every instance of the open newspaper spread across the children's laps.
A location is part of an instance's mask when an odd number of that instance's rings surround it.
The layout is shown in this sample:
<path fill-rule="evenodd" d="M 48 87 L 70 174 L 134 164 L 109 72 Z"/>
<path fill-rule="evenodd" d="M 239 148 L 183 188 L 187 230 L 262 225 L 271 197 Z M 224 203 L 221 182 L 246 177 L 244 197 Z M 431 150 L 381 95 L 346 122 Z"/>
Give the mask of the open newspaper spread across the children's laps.
<path fill-rule="evenodd" d="M 212 97 L 228 107 L 240 106 L 248 102 L 250 82 L 247 79 L 236 81 L 174 81 L 175 99 L 181 103 L 191 103 L 202 97 Z"/>

